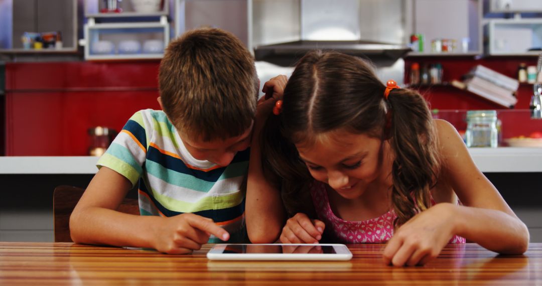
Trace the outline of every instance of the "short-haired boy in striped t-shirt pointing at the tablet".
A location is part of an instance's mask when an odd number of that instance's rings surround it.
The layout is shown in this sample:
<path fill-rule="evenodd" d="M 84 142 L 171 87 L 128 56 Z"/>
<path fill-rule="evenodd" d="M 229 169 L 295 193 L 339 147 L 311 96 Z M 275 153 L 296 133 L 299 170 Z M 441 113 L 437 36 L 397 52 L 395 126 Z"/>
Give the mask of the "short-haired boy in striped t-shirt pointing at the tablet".
<path fill-rule="evenodd" d="M 229 32 L 189 31 L 169 44 L 158 81 L 163 111 L 135 113 L 100 158 L 70 217 L 72 239 L 166 253 L 246 242 L 252 56 Z M 141 216 L 115 211 L 138 183 Z"/>

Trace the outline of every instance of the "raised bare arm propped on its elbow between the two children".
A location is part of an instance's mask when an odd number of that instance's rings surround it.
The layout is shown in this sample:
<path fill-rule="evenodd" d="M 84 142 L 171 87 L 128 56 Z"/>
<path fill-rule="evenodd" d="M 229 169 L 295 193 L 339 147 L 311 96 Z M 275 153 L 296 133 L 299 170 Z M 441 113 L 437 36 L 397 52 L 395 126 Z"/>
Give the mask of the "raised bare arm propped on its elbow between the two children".
<path fill-rule="evenodd" d="M 275 242 L 279 238 L 286 220 L 286 211 L 282 205 L 280 190 L 270 184 L 263 174 L 260 148 L 263 125 L 268 116 L 273 116 L 271 112 L 275 101 L 282 98 L 286 81 L 286 76 L 279 75 L 266 82 L 263 92 L 269 95 L 273 93 L 273 99 L 261 102 L 257 108 L 250 147 L 246 199 L 247 232 L 252 243 Z"/>

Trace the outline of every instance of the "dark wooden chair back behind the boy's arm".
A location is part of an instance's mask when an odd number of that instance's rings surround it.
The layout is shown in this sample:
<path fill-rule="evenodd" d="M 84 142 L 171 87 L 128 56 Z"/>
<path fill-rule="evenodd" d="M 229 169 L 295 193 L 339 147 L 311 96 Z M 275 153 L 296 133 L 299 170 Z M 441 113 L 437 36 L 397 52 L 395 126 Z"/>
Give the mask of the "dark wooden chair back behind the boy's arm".
<path fill-rule="evenodd" d="M 69 232 L 69 217 L 83 192 L 85 190 L 74 186 L 57 186 L 55 188 L 53 193 L 55 242 L 72 242 Z M 125 198 L 117 210 L 130 214 L 139 214 L 138 200 Z"/>

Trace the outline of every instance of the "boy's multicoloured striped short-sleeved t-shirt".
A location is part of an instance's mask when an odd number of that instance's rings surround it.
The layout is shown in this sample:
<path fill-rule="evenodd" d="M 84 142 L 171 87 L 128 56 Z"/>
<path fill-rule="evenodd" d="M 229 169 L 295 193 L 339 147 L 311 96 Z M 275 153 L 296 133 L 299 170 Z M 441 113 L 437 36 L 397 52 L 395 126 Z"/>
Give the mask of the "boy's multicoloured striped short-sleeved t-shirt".
<path fill-rule="evenodd" d="M 171 217 L 195 213 L 211 218 L 230 233 L 229 242 L 247 242 L 244 223 L 249 149 L 228 166 L 197 160 L 186 150 L 163 111 L 135 113 L 98 161 L 139 183 L 141 215 Z M 219 240 L 211 236 L 209 243 Z"/>

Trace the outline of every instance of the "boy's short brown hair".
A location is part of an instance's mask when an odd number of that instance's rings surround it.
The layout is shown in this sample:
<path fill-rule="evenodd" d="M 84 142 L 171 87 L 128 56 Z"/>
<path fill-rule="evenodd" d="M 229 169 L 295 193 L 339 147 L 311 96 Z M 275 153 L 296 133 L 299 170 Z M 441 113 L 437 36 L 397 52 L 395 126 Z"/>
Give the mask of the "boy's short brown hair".
<path fill-rule="evenodd" d="M 195 29 L 171 41 L 158 85 L 164 112 L 190 138 L 237 137 L 255 118 L 259 80 L 254 59 L 230 32 Z"/>

